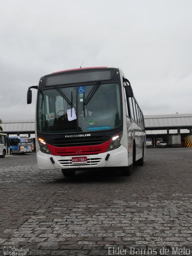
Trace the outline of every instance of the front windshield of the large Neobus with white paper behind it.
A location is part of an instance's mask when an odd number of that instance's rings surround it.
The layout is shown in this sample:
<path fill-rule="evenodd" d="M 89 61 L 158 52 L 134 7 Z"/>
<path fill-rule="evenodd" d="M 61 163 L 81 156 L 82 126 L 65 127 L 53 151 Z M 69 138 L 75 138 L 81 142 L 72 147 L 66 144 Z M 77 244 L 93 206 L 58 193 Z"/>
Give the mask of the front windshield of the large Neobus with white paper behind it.
<path fill-rule="evenodd" d="M 121 125 L 119 84 L 99 84 L 93 93 L 94 86 L 95 83 L 70 87 L 57 85 L 56 88 L 41 90 L 38 96 L 38 131 L 52 134 L 118 128 Z"/>

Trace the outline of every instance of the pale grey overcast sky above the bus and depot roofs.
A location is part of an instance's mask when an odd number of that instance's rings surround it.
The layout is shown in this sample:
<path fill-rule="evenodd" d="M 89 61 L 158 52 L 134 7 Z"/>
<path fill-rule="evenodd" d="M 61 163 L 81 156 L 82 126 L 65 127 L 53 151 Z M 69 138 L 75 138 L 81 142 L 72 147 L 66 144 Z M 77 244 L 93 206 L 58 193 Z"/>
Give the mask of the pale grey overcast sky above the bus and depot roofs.
<path fill-rule="evenodd" d="M 192 113 L 192 1 L 1 0 L 0 118 L 34 119 L 54 71 L 120 67 L 144 115 Z"/>

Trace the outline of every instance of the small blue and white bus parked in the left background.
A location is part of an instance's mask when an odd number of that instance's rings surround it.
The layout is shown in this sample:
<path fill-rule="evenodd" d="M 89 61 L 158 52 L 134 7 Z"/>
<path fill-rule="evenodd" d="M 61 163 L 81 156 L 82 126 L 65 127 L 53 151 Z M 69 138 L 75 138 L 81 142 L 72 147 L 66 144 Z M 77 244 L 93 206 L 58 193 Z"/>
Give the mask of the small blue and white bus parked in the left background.
<path fill-rule="evenodd" d="M 30 153 L 33 151 L 34 144 L 33 139 L 30 137 L 9 137 L 10 141 L 10 154 L 14 153 Z"/>

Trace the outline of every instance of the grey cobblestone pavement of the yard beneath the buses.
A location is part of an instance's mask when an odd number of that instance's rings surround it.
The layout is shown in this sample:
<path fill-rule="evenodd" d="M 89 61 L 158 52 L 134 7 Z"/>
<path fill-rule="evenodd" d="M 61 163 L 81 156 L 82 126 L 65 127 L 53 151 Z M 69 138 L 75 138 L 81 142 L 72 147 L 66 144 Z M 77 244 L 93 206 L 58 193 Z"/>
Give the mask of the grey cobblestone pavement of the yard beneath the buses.
<path fill-rule="evenodd" d="M 191 156 L 150 148 L 130 177 L 111 169 L 73 178 L 38 170 L 35 153 L 0 159 L 0 255 L 6 246 L 74 256 L 180 246 L 192 255 Z"/>

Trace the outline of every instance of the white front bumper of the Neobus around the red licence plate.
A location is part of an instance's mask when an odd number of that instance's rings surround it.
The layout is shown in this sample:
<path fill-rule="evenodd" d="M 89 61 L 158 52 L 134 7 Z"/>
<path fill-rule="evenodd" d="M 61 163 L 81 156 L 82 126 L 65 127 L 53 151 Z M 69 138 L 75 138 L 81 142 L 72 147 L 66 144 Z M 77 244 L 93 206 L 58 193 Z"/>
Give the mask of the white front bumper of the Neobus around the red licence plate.
<path fill-rule="evenodd" d="M 108 160 L 106 160 L 107 155 Z M 83 155 L 87 157 L 87 163 L 72 164 L 72 156 L 53 156 L 38 150 L 37 163 L 40 170 L 71 169 L 82 170 L 84 168 L 121 167 L 128 166 L 128 151 L 124 146 L 96 155 Z M 50 160 L 52 158 L 54 163 Z"/>

